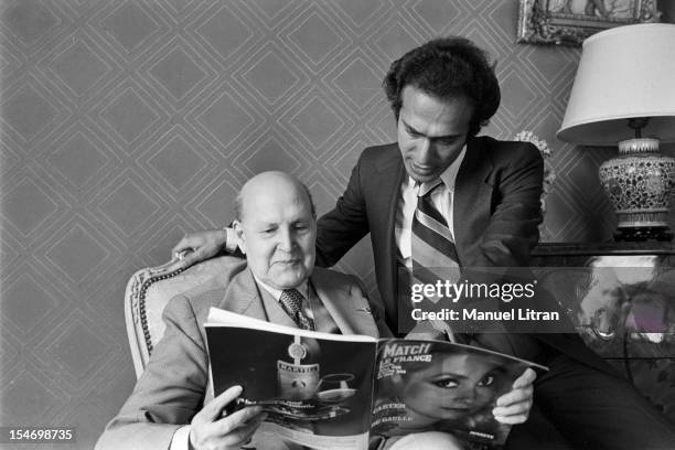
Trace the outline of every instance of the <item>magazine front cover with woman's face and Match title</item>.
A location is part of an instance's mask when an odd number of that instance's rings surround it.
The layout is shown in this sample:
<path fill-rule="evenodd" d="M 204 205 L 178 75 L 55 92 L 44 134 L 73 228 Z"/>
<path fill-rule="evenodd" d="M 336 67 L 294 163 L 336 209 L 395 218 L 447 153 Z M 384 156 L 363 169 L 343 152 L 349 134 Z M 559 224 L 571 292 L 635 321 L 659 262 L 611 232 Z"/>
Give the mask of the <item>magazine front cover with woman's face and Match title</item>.
<path fill-rule="evenodd" d="M 496 421 L 492 409 L 527 365 L 457 346 L 435 345 L 416 356 L 381 368 L 373 422 L 381 439 L 371 447 L 433 448 L 442 442 L 443 448 L 474 449 L 503 443 L 511 426 Z"/>

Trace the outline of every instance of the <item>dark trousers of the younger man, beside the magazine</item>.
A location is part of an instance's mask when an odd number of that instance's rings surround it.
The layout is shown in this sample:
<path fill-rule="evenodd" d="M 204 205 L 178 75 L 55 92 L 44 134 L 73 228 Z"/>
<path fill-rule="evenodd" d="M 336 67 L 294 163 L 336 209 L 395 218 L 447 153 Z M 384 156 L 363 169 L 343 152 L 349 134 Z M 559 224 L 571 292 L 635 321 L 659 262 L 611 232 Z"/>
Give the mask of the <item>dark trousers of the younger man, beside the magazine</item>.
<path fill-rule="evenodd" d="M 675 424 L 626 381 L 557 352 L 548 366 L 531 418 L 513 427 L 505 449 L 675 449 Z"/>

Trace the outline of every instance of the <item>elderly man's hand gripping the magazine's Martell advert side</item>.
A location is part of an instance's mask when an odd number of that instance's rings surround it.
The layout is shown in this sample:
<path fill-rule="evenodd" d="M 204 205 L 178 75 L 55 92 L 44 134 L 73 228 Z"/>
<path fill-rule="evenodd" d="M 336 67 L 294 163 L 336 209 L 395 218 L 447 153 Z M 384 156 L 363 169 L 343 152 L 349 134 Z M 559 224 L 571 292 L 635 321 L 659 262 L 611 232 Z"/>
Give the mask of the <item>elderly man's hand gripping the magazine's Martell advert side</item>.
<path fill-rule="evenodd" d="M 239 449 L 248 442 L 267 414 L 261 407 L 250 406 L 222 417 L 223 409 L 242 394 L 242 386 L 233 386 L 204 405 L 190 428 L 190 449 Z"/>

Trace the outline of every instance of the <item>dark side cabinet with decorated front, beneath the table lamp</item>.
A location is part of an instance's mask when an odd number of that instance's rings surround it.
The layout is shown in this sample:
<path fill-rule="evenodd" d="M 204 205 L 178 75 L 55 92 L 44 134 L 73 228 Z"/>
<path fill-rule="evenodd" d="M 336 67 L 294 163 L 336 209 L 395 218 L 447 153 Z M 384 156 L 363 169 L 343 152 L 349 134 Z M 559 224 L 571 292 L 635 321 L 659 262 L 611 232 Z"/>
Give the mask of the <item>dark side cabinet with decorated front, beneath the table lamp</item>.
<path fill-rule="evenodd" d="M 675 421 L 675 245 L 554 243 L 532 256 L 544 278 L 570 281 L 554 294 L 587 345 Z"/>

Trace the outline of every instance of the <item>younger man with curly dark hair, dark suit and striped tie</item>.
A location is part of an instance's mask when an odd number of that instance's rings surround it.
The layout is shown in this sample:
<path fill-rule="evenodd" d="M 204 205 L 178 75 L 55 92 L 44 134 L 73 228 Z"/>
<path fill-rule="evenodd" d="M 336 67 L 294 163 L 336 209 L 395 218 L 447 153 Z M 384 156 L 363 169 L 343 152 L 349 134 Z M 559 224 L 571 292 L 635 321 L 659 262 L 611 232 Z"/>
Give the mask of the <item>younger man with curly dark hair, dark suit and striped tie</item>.
<path fill-rule="evenodd" d="M 442 223 L 436 229 L 446 236 L 441 257 L 448 266 L 527 266 L 542 222 L 544 165 L 529 143 L 476 137 L 501 94 L 484 52 L 465 39 L 438 39 L 411 50 L 392 64 L 384 88 L 398 142 L 363 151 L 335 208 L 319 219 L 317 262 L 330 267 L 369 233 L 385 318 L 395 329 L 404 310 L 399 303 L 407 301 L 397 292 L 398 268 L 411 267 L 416 257 L 420 197 Z M 231 247 L 226 235 L 186 236 L 174 250 L 194 249 L 191 264 Z M 551 367 L 535 384 L 535 406 L 564 435 L 567 442 L 558 448 L 675 446 L 673 425 L 576 334 L 486 338 L 485 346 Z M 514 448 L 546 448 L 526 437 L 514 443 L 518 436 L 510 437 Z"/>

